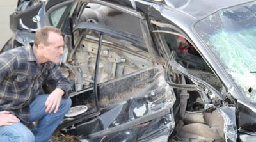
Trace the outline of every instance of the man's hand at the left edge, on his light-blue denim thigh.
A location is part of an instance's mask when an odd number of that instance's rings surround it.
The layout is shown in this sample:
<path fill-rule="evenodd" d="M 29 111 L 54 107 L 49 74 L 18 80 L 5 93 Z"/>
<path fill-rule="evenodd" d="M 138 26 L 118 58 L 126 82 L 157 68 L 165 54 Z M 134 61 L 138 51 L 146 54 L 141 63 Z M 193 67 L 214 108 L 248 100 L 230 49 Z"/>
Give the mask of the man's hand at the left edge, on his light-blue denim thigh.
<path fill-rule="evenodd" d="M 20 120 L 9 111 L 0 111 L 0 126 L 12 125 L 13 122 L 20 122 Z"/>

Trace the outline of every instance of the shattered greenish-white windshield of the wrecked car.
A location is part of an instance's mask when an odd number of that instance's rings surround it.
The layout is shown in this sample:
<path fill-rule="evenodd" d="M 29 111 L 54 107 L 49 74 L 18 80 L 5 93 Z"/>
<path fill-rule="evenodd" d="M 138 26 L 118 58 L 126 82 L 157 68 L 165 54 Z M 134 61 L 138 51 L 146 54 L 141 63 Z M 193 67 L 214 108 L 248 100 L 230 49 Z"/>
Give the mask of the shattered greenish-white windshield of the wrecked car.
<path fill-rule="evenodd" d="M 239 90 L 256 102 L 256 3 L 220 10 L 195 29 Z"/>

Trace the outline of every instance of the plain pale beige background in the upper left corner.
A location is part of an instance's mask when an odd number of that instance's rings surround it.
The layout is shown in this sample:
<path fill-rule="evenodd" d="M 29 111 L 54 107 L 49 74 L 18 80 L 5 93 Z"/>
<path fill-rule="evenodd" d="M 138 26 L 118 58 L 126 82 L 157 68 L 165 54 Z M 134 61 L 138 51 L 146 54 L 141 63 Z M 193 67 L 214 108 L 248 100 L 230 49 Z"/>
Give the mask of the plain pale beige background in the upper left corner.
<path fill-rule="evenodd" d="M 0 49 L 3 47 L 4 43 L 13 35 L 10 29 L 10 19 L 9 16 L 15 11 L 17 6 L 17 0 L 2 1 L 0 3 Z"/>

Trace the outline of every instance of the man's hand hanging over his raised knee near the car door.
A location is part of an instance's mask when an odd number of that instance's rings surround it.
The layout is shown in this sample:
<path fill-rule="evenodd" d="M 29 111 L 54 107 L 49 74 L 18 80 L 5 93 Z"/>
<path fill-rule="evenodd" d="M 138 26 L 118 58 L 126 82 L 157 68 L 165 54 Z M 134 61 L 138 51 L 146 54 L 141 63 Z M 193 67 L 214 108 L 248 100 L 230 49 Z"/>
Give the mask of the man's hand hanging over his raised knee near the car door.
<path fill-rule="evenodd" d="M 56 88 L 52 93 L 49 95 L 45 102 L 45 112 L 46 113 L 52 113 L 54 110 L 54 113 L 57 113 L 59 107 L 60 107 L 60 102 L 62 99 L 62 96 L 64 95 L 64 91 L 61 90 L 60 88 Z"/>

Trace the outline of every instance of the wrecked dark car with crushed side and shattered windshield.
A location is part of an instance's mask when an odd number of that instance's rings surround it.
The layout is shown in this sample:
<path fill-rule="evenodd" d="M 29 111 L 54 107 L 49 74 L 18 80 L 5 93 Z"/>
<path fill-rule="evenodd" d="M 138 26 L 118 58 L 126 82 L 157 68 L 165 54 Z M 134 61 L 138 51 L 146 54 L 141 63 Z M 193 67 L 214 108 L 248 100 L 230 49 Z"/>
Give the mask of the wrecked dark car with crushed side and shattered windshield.
<path fill-rule="evenodd" d="M 22 1 L 2 52 L 61 28 L 80 141 L 255 141 L 256 1 Z M 47 87 L 45 87 L 47 91 Z"/>

